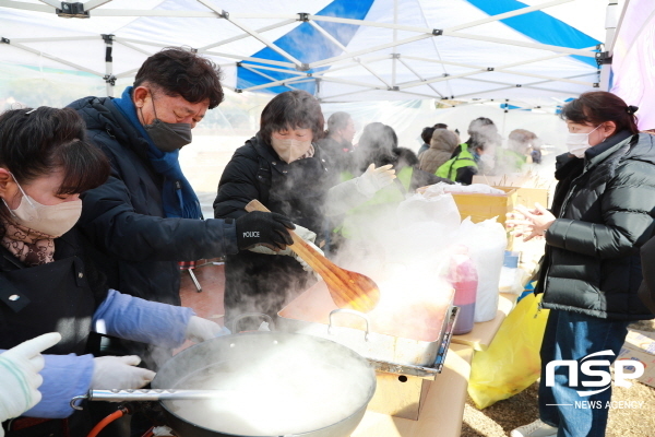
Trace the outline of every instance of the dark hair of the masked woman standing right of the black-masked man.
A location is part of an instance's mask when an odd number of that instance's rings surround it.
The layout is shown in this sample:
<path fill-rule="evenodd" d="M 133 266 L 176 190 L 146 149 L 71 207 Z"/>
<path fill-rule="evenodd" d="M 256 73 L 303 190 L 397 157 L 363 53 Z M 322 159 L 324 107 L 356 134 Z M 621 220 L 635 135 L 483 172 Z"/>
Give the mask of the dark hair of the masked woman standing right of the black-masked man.
<path fill-rule="evenodd" d="M 271 134 L 287 129 L 311 129 L 312 141 L 323 138 L 325 119 L 319 101 L 307 91 L 278 94 L 262 110 L 260 135 L 271 144 Z"/>

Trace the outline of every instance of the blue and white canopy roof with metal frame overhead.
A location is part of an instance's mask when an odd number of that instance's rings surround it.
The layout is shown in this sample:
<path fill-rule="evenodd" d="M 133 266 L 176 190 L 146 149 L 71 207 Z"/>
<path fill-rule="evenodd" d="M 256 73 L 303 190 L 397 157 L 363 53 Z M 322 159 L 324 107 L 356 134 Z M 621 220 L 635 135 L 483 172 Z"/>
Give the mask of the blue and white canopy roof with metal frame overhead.
<path fill-rule="evenodd" d="M 603 86 L 602 0 L 81 4 L 0 0 L 0 68 L 84 71 L 106 81 L 111 95 L 112 83 L 132 78 L 147 56 L 190 46 L 222 66 L 237 92 L 301 88 L 322 102 L 552 102 Z"/>

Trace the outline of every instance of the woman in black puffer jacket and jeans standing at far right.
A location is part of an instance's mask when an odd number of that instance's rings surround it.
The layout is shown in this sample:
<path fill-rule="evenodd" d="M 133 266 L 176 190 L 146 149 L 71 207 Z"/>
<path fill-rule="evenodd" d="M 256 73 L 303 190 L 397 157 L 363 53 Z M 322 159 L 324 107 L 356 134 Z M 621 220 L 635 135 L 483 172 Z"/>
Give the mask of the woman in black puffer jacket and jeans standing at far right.
<path fill-rule="evenodd" d="M 558 156 L 559 180 L 550 211 L 517 208 L 508 221 L 529 239 L 544 236 L 546 253 L 536 292 L 550 308 L 541 344 L 539 420 L 512 437 L 605 435 L 611 387 L 567 366 L 593 353 L 609 371 L 631 321 L 654 316 L 638 295 L 642 281 L 639 248 L 655 231 L 655 139 L 638 133 L 634 111 L 607 92 L 582 94 L 562 109 L 570 153 Z M 595 383 L 595 385 L 594 385 Z M 585 393 L 586 392 L 586 393 Z M 576 408 L 591 401 L 600 408 Z"/>

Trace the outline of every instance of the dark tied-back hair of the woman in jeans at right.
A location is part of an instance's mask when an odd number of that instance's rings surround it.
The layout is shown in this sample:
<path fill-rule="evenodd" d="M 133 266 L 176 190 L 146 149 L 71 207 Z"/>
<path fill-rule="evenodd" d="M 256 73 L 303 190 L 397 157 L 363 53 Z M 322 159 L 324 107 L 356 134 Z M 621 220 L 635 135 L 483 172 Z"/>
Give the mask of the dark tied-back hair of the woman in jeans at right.
<path fill-rule="evenodd" d="M 638 133 L 636 107 L 629 107 L 626 102 L 616 94 L 607 91 L 592 91 L 583 93 L 574 101 L 569 102 L 563 108 L 560 117 L 582 125 L 598 126 L 605 121 L 614 121 L 617 125 L 616 132 L 628 130 Z"/>

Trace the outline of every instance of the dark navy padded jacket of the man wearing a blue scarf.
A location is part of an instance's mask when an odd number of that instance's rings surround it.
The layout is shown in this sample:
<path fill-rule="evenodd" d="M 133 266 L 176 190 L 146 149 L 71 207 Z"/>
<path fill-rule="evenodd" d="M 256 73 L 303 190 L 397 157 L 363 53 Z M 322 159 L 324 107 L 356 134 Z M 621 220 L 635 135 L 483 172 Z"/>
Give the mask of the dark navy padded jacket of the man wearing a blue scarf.
<path fill-rule="evenodd" d="M 111 161 L 109 180 L 82 196 L 76 226 L 91 241 L 87 253 L 109 287 L 179 305 L 178 261 L 236 253 L 234 222 L 164 218 L 163 180 L 147 160 L 146 140 L 108 97 L 85 97 L 69 106 Z"/>

